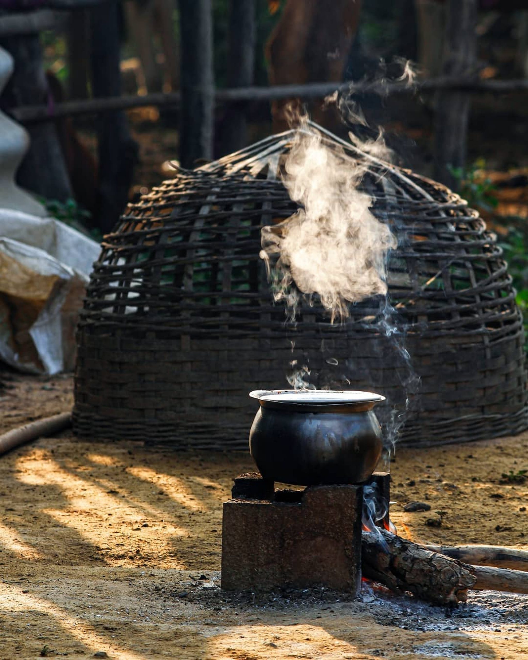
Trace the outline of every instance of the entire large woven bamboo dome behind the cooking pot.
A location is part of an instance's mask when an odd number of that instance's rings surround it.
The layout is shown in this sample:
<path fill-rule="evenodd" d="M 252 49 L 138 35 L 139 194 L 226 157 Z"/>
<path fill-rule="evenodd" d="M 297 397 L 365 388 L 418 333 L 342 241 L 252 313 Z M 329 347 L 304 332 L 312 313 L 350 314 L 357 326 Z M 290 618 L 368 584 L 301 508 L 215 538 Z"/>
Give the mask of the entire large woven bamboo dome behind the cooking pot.
<path fill-rule="evenodd" d="M 330 149 L 366 159 L 362 188 L 398 238 L 387 275 L 391 330 L 384 297 L 334 325 L 317 304 L 301 306 L 295 321 L 273 304 L 260 232 L 297 209 L 280 175 L 288 131 L 178 170 L 105 236 L 77 335 L 77 434 L 246 448 L 248 392 L 288 387 L 299 367 L 317 387 L 383 393 L 381 417 L 405 422 L 407 444 L 528 427 L 521 314 L 483 220 L 446 187 L 317 130 Z"/>

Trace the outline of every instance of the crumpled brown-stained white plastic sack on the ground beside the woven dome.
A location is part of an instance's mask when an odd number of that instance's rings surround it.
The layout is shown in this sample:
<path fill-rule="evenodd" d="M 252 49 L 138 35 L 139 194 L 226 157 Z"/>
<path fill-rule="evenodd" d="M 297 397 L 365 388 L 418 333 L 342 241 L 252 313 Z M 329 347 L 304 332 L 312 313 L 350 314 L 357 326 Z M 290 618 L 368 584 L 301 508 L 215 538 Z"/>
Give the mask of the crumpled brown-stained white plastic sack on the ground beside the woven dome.
<path fill-rule="evenodd" d="M 75 327 L 98 244 L 53 218 L 0 209 L 0 358 L 24 372 L 75 364 Z"/>

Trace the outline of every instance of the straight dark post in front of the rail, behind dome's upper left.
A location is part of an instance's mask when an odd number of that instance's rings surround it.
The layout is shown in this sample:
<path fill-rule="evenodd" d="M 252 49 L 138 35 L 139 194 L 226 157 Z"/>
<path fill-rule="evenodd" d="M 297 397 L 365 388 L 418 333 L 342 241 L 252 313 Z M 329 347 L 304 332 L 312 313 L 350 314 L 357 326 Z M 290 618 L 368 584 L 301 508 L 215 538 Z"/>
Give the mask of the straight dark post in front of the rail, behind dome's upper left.
<path fill-rule="evenodd" d="M 180 163 L 213 158 L 213 14 L 211 0 L 179 0 L 182 112 Z"/>

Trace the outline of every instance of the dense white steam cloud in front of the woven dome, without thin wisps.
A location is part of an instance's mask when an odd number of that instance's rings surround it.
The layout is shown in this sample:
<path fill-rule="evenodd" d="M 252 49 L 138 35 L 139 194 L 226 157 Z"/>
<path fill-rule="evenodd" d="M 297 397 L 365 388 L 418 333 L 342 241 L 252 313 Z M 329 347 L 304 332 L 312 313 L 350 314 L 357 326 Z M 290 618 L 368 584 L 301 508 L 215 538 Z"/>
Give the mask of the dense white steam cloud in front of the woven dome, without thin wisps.
<path fill-rule="evenodd" d="M 382 142 L 372 143 L 380 156 Z M 306 119 L 284 164 L 283 182 L 300 209 L 261 233 L 275 300 L 294 317 L 302 296 L 317 295 L 331 320 L 343 321 L 348 304 L 387 292 L 387 251 L 397 241 L 359 189 L 365 160 L 329 149 Z"/>

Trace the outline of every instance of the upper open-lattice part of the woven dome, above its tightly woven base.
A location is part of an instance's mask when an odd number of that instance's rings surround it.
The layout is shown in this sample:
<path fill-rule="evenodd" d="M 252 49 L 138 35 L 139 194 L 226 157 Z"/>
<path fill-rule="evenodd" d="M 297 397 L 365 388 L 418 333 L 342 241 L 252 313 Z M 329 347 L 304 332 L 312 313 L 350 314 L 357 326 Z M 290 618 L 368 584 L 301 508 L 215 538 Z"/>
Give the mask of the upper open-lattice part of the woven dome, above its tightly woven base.
<path fill-rule="evenodd" d="M 387 284 L 408 332 L 490 342 L 521 331 L 502 249 L 477 211 L 438 183 L 321 127 L 309 130 L 366 164 L 361 187 L 372 213 L 397 236 Z M 343 331 L 317 304 L 286 323 L 259 258 L 261 228 L 298 208 L 281 181 L 295 136 L 287 131 L 192 172 L 180 169 L 129 205 L 104 237 L 81 325 L 213 337 Z M 347 332 L 377 331 L 384 306 L 380 296 L 352 306 Z"/>

